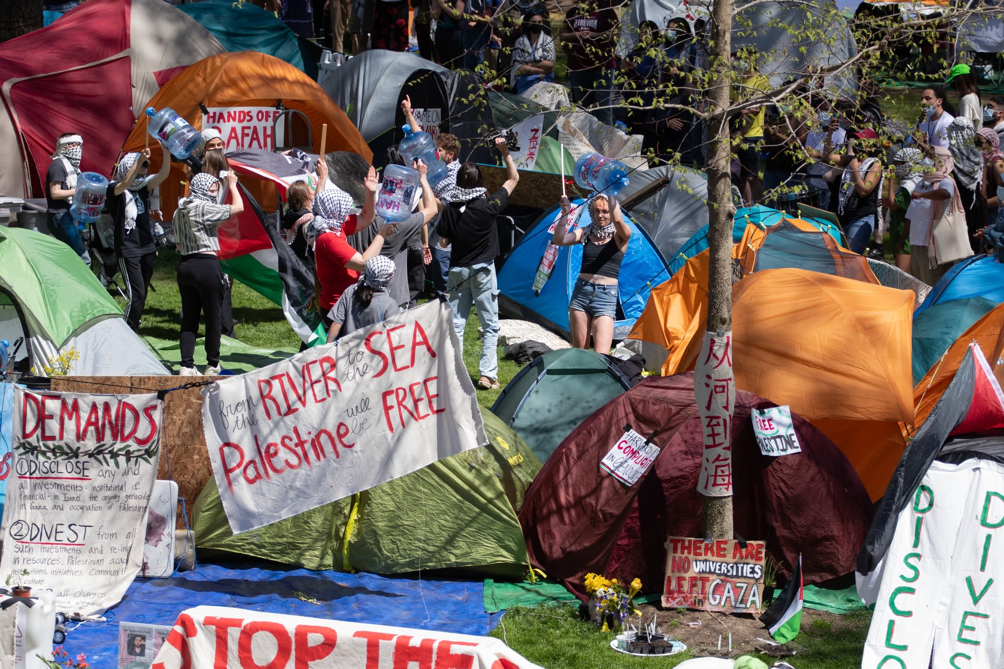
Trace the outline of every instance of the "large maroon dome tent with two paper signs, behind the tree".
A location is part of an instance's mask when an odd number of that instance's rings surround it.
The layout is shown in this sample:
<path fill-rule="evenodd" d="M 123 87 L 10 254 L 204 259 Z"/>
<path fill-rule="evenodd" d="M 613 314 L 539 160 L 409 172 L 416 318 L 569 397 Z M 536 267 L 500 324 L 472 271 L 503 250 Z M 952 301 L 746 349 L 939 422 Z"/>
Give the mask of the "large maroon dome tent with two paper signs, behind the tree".
<path fill-rule="evenodd" d="M 864 486 L 821 432 L 792 415 L 801 453 L 760 453 L 751 409 L 777 406 L 739 391 L 732 458 L 736 532 L 762 539 L 789 573 L 798 553 L 806 584 L 849 574 L 871 523 Z M 599 462 L 631 425 L 662 452 L 648 474 L 628 487 Z M 650 378 L 610 401 L 568 435 L 526 493 L 519 519 L 534 567 L 584 599 L 589 572 L 659 593 L 666 537 L 697 536 L 697 491 L 703 450 L 693 373 Z"/>

